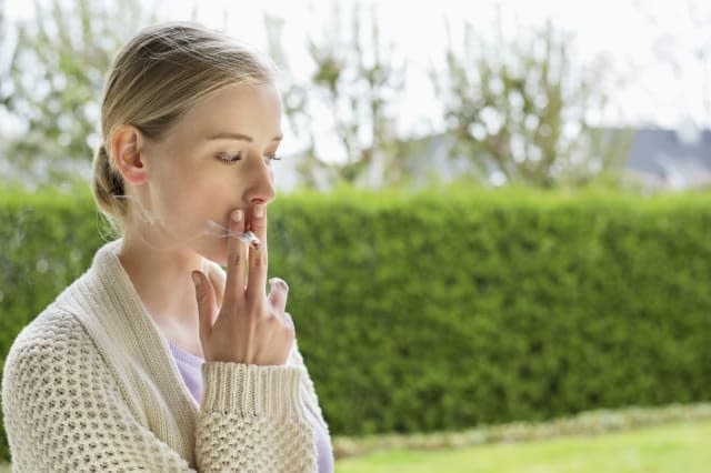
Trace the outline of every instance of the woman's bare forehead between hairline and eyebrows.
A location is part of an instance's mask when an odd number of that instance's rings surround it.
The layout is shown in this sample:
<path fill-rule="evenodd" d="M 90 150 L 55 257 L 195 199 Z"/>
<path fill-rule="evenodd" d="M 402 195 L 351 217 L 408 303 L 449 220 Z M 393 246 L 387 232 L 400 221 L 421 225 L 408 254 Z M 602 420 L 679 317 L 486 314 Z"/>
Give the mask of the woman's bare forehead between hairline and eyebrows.
<path fill-rule="evenodd" d="M 216 131 L 231 131 L 271 140 L 281 132 L 279 92 L 273 84 L 223 89 L 196 103 L 176 131 L 196 139 Z"/>

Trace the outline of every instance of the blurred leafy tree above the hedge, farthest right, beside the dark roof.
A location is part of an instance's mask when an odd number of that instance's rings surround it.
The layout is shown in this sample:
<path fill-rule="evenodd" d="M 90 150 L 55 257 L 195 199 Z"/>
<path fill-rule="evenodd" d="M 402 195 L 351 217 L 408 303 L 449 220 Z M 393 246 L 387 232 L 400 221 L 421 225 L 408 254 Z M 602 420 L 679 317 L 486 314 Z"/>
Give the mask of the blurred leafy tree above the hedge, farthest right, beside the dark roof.
<path fill-rule="evenodd" d="M 443 101 L 445 125 L 455 137 L 452 154 L 468 172 L 494 184 L 551 188 L 614 179 L 629 133 L 608 133 L 589 123 L 607 103 L 603 63 L 573 69 L 571 39 L 543 28 L 508 41 L 501 17 L 492 41 L 464 24 L 457 50 L 451 31 L 444 73 L 430 76 Z"/>

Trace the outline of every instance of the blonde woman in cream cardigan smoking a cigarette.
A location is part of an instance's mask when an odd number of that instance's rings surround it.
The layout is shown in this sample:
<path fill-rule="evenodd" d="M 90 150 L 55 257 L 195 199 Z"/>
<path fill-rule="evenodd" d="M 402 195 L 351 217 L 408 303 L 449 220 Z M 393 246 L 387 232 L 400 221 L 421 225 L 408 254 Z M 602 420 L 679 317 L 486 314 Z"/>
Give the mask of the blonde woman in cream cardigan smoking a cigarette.
<path fill-rule="evenodd" d="M 162 24 L 119 51 L 93 194 L 122 238 L 11 348 L 14 471 L 332 471 L 287 283 L 266 294 L 280 122 L 269 61 L 223 34 Z"/>

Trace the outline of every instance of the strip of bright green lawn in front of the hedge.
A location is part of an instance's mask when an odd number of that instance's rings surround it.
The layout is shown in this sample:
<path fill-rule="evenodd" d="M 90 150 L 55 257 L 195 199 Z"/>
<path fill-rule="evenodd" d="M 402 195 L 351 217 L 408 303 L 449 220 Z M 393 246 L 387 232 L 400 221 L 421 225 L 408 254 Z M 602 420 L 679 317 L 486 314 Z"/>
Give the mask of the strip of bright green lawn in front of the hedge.
<path fill-rule="evenodd" d="M 340 460 L 339 473 L 708 473 L 711 422 L 449 451 L 391 450 Z"/>

